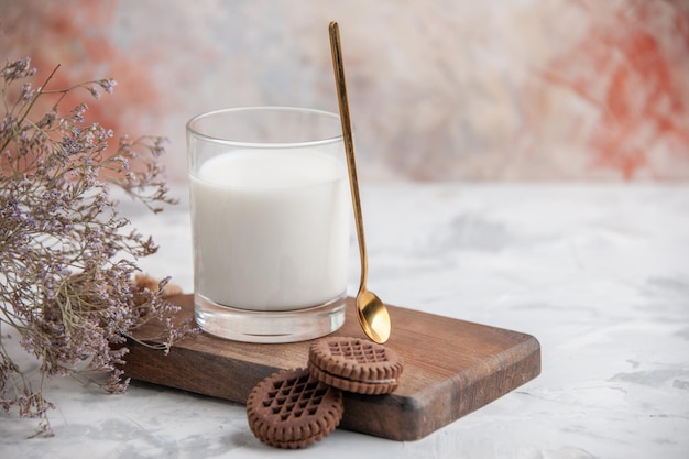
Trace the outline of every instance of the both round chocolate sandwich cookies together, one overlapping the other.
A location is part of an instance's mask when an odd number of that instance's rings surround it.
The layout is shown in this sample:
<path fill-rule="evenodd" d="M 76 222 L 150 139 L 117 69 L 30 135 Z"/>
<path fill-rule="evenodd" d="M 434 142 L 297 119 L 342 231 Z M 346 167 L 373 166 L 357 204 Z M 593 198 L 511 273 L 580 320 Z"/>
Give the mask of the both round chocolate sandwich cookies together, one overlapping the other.
<path fill-rule="evenodd" d="M 247 400 L 251 431 L 277 448 L 304 448 L 330 434 L 343 413 L 342 391 L 382 395 L 397 389 L 403 365 L 391 349 L 347 337 L 315 341 L 307 368 L 261 381 Z"/>

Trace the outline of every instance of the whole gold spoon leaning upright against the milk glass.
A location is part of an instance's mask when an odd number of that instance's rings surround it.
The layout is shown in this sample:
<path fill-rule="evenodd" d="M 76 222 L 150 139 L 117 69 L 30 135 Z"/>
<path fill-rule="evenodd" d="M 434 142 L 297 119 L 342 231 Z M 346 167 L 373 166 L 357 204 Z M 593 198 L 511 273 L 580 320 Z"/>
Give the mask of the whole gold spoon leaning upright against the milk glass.
<path fill-rule="evenodd" d="M 359 293 L 357 293 L 357 317 L 359 317 L 359 324 L 363 332 L 367 334 L 371 340 L 383 343 L 390 338 L 390 314 L 387 314 L 383 302 L 381 302 L 375 294 L 367 289 L 369 262 L 367 256 L 367 243 L 363 237 L 363 218 L 361 216 L 361 198 L 359 197 L 359 182 L 357 179 L 357 162 L 354 161 L 354 142 L 352 141 L 352 127 L 349 119 L 349 103 L 347 101 L 347 87 L 344 85 L 340 28 L 337 22 L 330 22 L 329 31 L 332 68 L 335 69 L 335 83 L 340 106 L 340 120 L 342 122 L 344 151 L 347 153 L 349 185 L 354 207 L 354 222 L 357 225 L 357 239 L 359 240 L 359 255 L 361 259 L 361 282 L 359 284 Z"/>

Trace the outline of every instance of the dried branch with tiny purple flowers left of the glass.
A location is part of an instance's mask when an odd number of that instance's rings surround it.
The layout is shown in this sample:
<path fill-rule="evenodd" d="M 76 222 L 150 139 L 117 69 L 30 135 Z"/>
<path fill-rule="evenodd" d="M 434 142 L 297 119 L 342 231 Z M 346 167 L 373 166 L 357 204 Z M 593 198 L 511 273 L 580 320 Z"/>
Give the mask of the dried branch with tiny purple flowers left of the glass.
<path fill-rule="evenodd" d="M 85 103 L 65 113 L 59 103 L 77 88 L 95 97 L 111 92 L 114 81 L 47 89 L 55 70 L 37 88 L 28 81 L 35 74 L 29 58 L 0 70 L 0 406 L 40 418 L 45 435 L 52 435 L 53 405 L 43 395 L 44 379 L 100 371 L 109 374 L 101 383 L 107 391 L 122 392 L 130 331 L 161 320 L 163 349 L 192 332 L 190 324 L 172 320 L 178 308 L 165 299 L 167 278 L 134 282 L 136 260 L 157 248 L 128 230 L 109 194 L 114 184 L 155 212 L 173 204 L 157 163 L 164 139 L 123 138 L 107 154 L 112 131 L 87 124 Z M 51 109 L 35 116 L 40 99 Z M 40 362 L 37 389 L 2 343 L 7 326 Z"/>

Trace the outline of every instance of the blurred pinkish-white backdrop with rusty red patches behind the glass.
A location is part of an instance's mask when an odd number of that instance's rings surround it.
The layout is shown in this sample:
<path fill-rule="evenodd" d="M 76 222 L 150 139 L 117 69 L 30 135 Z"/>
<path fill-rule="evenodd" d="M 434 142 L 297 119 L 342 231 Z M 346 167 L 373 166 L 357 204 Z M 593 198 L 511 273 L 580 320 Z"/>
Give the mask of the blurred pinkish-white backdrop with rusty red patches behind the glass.
<path fill-rule="evenodd" d="M 113 77 L 88 118 L 169 138 L 281 105 L 337 111 L 340 23 L 367 179 L 689 178 L 689 2 L 0 0 L 0 54 L 56 86 Z M 37 84 L 37 81 L 36 81 Z"/>

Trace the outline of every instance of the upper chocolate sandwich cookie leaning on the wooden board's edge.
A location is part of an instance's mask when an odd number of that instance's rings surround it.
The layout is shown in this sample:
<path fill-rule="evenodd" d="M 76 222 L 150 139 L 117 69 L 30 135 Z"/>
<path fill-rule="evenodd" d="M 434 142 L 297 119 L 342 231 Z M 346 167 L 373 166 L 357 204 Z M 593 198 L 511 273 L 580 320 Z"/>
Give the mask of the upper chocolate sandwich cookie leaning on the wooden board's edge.
<path fill-rule="evenodd" d="M 327 337 L 311 343 L 308 370 L 342 391 L 379 395 L 397 389 L 403 364 L 392 349 L 373 341 Z"/>

